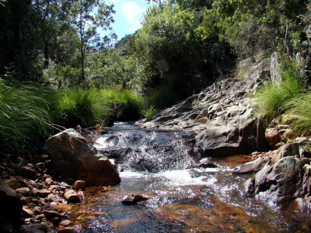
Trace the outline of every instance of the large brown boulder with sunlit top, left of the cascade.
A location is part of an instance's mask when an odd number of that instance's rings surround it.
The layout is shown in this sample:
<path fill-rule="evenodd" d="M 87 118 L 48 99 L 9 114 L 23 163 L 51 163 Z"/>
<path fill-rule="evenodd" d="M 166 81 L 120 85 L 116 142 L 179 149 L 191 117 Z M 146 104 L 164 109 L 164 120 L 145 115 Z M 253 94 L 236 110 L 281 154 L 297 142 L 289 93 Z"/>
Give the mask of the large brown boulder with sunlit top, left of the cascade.
<path fill-rule="evenodd" d="M 109 159 L 73 129 L 55 134 L 46 144 L 54 169 L 62 176 L 83 180 L 87 186 L 120 183 Z"/>

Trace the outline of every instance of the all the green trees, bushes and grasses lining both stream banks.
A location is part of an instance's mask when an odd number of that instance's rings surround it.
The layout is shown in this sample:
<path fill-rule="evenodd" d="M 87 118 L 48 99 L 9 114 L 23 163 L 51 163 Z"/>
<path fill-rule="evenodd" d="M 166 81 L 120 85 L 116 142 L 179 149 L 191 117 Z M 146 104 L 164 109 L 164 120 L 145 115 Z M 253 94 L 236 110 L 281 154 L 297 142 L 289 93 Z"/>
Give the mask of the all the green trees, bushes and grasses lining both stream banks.
<path fill-rule="evenodd" d="M 113 5 L 102 0 L 0 0 L 2 148 L 21 151 L 59 126 L 150 120 L 231 77 L 242 58 L 299 53 L 310 70 L 308 0 L 147 1 L 142 28 L 117 42 L 97 33 L 113 22 Z M 259 90 L 257 106 L 271 117 L 302 116 L 291 117 L 301 130 L 310 74 L 288 67 L 283 83 Z"/>

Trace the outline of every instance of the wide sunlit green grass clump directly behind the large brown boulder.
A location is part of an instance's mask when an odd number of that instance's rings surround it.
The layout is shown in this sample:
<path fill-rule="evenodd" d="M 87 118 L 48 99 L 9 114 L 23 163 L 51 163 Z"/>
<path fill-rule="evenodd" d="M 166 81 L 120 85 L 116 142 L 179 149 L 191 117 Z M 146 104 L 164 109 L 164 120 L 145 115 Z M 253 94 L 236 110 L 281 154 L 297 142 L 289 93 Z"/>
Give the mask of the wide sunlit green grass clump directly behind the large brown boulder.
<path fill-rule="evenodd" d="M 55 121 L 64 127 L 91 127 L 107 124 L 112 114 L 104 95 L 98 90 L 64 90 L 53 101 Z"/>

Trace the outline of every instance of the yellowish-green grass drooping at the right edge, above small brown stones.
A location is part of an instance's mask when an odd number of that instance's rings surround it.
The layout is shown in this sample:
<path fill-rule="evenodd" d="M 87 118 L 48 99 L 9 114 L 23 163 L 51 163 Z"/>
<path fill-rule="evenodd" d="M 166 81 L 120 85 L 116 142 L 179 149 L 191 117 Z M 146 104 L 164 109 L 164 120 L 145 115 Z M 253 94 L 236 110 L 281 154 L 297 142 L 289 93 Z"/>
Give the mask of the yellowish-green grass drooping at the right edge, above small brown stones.
<path fill-rule="evenodd" d="M 298 135 L 311 135 L 311 92 L 298 95 L 283 105 L 286 123 Z"/>

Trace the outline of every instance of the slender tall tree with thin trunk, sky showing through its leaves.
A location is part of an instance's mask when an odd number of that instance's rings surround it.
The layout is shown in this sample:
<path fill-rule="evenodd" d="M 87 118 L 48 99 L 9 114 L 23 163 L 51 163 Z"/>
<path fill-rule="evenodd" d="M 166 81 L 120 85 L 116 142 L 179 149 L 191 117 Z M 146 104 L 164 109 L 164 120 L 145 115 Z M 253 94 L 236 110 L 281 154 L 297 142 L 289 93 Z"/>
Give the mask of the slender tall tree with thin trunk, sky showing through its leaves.
<path fill-rule="evenodd" d="M 100 47 L 103 45 L 98 28 L 111 30 L 110 24 L 114 22 L 112 14 L 113 4 L 106 5 L 102 0 L 74 0 L 72 5 L 72 25 L 80 36 L 81 52 L 81 82 L 85 81 L 85 55 L 87 47 Z"/>

